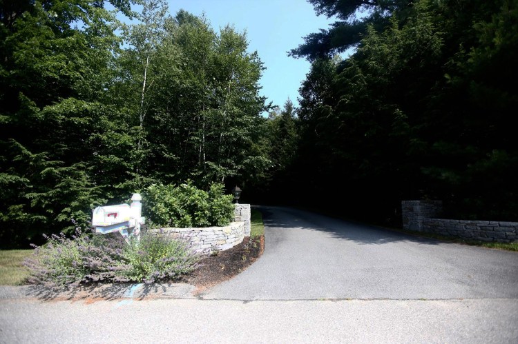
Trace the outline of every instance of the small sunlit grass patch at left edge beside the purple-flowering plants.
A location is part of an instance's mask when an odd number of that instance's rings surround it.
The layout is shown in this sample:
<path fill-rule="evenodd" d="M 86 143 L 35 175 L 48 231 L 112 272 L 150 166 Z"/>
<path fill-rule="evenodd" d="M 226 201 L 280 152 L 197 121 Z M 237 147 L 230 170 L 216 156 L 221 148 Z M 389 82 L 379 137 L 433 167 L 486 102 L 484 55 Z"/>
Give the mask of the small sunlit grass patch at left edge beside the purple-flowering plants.
<path fill-rule="evenodd" d="M 34 250 L 0 250 L 0 285 L 21 285 L 26 282 L 29 270 L 23 260 Z"/>

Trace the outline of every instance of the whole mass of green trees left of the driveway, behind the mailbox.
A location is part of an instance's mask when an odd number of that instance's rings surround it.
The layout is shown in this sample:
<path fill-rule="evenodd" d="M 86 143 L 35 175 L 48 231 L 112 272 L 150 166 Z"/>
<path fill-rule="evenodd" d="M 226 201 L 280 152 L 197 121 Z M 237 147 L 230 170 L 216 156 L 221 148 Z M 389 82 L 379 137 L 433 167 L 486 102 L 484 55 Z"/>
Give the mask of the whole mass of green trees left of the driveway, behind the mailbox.
<path fill-rule="evenodd" d="M 122 25 L 95 0 L 0 8 L 2 248 L 86 228 L 95 206 L 153 183 L 208 190 L 269 165 L 257 143 L 264 68 L 245 35 L 171 17 L 162 0 L 136 1 L 140 13 L 109 2 L 138 21 Z M 223 205 L 204 207 L 199 223 L 224 218 L 207 220 Z"/>

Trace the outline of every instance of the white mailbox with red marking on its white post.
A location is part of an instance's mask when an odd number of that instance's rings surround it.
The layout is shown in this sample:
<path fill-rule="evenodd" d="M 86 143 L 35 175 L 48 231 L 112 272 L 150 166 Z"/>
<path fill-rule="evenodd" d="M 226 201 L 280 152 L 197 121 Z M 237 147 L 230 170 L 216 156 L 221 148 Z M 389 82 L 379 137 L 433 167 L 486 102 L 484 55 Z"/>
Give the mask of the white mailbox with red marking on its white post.
<path fill-rule="evenodd" d="M 140 235 L 140 225 L 145 222 L 141 216 L 142 197 L 140 194 L 133 194 L 131 205 L 117 204 L 97 207 L 93 210 L 92 225 L 96 233 L 108 234 L 119 232 L 128 241 L 128 236 Z"/>

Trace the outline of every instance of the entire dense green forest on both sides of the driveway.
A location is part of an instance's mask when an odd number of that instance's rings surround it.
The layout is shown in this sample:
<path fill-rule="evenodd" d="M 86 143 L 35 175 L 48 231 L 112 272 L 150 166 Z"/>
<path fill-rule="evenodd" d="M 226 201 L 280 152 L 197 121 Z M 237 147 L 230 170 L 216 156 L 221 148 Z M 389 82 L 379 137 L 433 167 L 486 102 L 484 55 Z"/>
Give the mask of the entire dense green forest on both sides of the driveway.
<path fill-rule="evenodd" d="M 337 21 L 289 52 L 311 70 L 280 108 L 244 33 L 164 0 L 0 1 L 0 247 L 186 180 L 391 225 L 402 199 L 518 221 L 518 0 L 309 2 Z"/>

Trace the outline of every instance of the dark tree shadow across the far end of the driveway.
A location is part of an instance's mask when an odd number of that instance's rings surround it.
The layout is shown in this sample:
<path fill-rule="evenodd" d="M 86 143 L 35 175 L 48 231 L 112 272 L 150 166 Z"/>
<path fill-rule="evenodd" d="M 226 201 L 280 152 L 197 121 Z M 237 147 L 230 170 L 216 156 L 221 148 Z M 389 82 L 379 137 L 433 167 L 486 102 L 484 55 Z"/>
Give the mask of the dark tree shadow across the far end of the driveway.
<path fill-rule="evenodd" d="M 325 232 L 329 236 L 353 241 L 361 245 L 383 245 L 396 242 L 412 242 L 419 245 L 439 245 L 445 241 L 429 239 L 412 234 L 396 232 L 384 227 L 336 219 L 330 216 L 299 210 L 296 208 L 254 206 L 263 214 L 265 226 L 269 228 L 301 229 Z"/>

